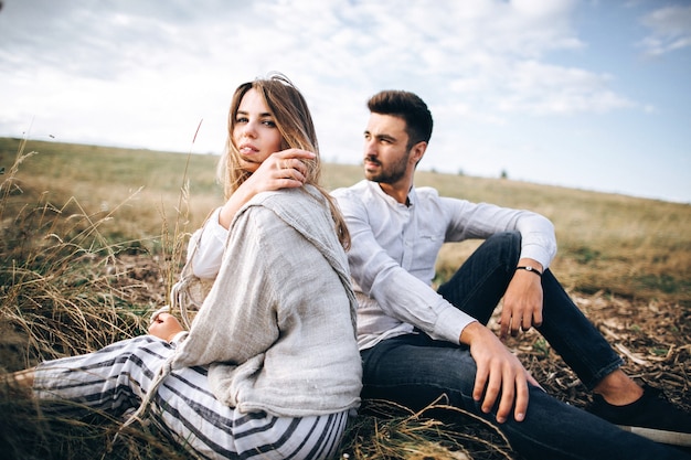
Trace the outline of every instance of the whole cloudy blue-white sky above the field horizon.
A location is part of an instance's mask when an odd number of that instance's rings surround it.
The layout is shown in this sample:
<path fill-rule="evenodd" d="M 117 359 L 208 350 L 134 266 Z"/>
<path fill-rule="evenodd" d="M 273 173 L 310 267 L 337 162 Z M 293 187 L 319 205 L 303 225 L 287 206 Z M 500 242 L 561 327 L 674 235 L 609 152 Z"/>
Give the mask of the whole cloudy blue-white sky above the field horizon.
<path fill-rule="evenodd" d="M 416 93 L 421 170 L 691 203 L 691 0 L 1 0 L 0 136 L 221 153 L 284 73 L 325 161 Z"/>

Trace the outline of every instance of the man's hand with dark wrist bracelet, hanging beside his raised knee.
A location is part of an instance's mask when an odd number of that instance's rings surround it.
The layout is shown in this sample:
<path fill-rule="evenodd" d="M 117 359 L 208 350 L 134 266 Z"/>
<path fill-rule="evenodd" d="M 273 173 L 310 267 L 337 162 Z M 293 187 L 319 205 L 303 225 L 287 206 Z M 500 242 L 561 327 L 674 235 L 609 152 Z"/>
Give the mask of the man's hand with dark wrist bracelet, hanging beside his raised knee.
<path fill-rule="evenodd" d="M 519 266 L 535 267 L 542 272 L 542 266 L 532 259 L 521 259 Z M 520 330 L 542 324 L 542 279 L 528 270 L 515 270 L 503 296 L 503 307 L 499 319 L 499 338 L 506 339 L 509 331 L 517 336 Z"/>

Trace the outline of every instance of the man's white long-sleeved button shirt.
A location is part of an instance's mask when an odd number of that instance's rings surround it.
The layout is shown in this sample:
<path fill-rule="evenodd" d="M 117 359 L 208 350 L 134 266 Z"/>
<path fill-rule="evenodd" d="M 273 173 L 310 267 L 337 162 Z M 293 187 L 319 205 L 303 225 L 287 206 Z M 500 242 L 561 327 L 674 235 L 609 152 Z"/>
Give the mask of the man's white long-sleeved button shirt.
<path fill-rule="evenodd" d="M 554 226 L 540 214 L 486 203 L 440 197 L 432 188 L 412 189 L 408 205 L 361 181 L 333 191 L 350 231 L 348 253 L 358 298 L 358 345 L 412 333 L 459 343 L 475 319 L 432 288 L 435 263 L 447 242 L 485 239 L 519 231 L 521 257 L 548 268 L 556 254 Z"/>

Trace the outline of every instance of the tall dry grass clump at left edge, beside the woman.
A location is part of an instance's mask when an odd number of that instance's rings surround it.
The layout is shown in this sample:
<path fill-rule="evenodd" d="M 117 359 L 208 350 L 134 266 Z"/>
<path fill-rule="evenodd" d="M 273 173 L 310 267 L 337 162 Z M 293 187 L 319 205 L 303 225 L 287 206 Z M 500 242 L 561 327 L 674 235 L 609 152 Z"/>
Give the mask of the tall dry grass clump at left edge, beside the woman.
<path fill-rule="evenodd" d="M 34 204 L 8 206 L 22 194 L 15 172 L 28 157 L 20 152 L 0 186 L 2 304 L 15 307 L 3 308 L 2 328 L 25 332 L 24 363 L 88 352 L 130 335 L 139 315 L 123 308 L 121 299 L 141 287 L 113 286 L 117 253 L 129 247 L 102 235 L 110 213 L 88 214 L 72 199 L 57 206 L 45 194 Z M 9 210 L 14 212 L 8 216 Z"/>

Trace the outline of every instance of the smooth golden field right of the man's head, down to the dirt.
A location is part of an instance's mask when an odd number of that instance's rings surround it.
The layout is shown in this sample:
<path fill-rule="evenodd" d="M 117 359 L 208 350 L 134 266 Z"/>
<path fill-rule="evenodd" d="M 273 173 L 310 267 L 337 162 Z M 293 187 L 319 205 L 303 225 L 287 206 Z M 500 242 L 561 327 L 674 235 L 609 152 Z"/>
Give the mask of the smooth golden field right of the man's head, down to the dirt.
<path fill-rule="evenodd" d="M 689 204 L 430 172 L 418 172 L 416 185 L 549 217 L 559 242 L 552 268 L 571 290 L 691 307 Z M 477 244 L 448 245 L 437 264 L 440 278 Z"/>

